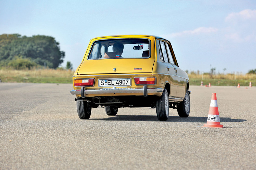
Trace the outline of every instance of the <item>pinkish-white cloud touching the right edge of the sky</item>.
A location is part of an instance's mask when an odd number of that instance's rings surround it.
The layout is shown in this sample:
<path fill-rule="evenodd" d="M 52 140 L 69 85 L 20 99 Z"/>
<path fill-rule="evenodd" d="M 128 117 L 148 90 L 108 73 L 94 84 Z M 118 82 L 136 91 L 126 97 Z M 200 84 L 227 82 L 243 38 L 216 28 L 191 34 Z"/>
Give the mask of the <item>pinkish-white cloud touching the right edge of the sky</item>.
<path fill-rule="evenodd" d="M 245 9 L 238 13 L 232 12 L 225 18 L 225 21 L 237 20 L 237 19 L 243 19 L 243 20 L 256 19 L 256 10 Z"/>

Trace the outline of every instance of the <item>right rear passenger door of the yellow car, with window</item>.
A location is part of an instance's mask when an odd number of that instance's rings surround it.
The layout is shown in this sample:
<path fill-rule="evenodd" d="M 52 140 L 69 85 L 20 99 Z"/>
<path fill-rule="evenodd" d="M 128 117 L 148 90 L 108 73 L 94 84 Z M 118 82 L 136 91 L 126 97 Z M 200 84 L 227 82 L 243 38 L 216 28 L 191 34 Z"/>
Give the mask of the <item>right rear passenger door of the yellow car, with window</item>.
<path fill-rule="evenodd" d="M 162 56 L 163 62 L 165 62 L 166 69 L 168 71 L 168 74 L 170 75 L 170 96 L 176 97 L 177 94 L 177 76 L 176 71 L 174 70 L 174 67 L 169 61 L 169 57 L 166 50 L 165 41 L 159 41 L 160 43 L 160 55 Z"/>

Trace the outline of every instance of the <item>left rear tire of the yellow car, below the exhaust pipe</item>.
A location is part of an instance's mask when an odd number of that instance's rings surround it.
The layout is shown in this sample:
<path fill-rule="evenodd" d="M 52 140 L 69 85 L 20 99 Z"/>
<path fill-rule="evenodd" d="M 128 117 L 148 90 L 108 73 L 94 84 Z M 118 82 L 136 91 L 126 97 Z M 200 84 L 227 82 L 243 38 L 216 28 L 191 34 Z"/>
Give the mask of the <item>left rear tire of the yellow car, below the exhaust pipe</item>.
<path fill-rule="evenodd" d="M 87 106 L 85 101 L 76 101 L 77 113 L 80 119 L 89 119 L 92 108 Z"/>

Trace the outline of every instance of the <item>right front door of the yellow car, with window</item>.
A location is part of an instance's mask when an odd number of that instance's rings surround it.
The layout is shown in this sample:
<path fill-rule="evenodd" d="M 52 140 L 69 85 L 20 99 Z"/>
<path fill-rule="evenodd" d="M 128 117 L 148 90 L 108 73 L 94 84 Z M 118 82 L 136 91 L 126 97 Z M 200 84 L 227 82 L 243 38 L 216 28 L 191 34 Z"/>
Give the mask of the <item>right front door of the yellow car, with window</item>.
<path fill-rule="evenodd" d="M 168 56 L 169 56 L 170 63 L 171 63 L 171 65 L 173 66 L 173 68 L 175 70 L 175 75 L 176 75 L 176 78 L 177 78 L 176 97 L 182 98 L 185 95 L 185 88 L 186 88 L 186 82 L 185 82 L 185 79 L 183 77 L 183 71 L 178 67 L 178 64 L 176 62 L 171 44 L 166 43 L 166 47 L 167 47 L 167 53 L 168 53 Z"/>

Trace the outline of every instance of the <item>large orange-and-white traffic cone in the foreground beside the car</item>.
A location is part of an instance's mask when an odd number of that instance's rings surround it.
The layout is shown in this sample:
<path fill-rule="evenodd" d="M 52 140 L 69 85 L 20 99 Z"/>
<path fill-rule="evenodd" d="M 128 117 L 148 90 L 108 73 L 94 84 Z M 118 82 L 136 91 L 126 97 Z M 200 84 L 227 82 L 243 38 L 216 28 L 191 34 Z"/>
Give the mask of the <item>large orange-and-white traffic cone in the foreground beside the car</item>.
<path fill-rule="evenodd" d="M 218 110 L 216 93 L 212 93 L 211 105 L 210 105 L 209 114 L 207 118 L 207 124 L 204 124 L 203 127 L 223 128 L 223 125 L 221 125 L 220 123 L 220 115 Z"/>

